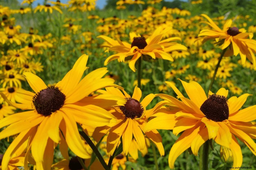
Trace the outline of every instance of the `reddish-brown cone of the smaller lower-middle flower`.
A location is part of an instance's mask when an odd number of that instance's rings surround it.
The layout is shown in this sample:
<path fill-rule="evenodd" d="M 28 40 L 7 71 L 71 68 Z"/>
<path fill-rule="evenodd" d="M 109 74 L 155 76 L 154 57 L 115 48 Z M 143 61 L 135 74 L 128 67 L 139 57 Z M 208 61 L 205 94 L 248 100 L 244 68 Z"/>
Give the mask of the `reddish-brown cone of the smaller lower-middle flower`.
<path fill-rule="evenodd" d="M 140 102 L 138 100 L 132 98 L 126 98 L 126 103 L 124 106 L 120 106 L 120 110 L 122 110 L 123 114 L 129 118 L 141 117 L 144 109 L 142 108 Z"/>

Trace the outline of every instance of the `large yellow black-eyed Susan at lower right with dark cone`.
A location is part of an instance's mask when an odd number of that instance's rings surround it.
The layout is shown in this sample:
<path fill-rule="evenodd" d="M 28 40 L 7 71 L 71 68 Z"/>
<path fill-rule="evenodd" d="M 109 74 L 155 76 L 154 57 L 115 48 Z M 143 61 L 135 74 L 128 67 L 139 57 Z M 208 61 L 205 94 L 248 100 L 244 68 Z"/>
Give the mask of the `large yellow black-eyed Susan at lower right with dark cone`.
<path fill-rule="evenodd" d="M 183 131 L 169 154 L 169 166 L 172 169 L 175 160 L 182 152 L 191 147 L 193 154 L 197 155 L 200 146 L 208 139 L 213 139 L 217 144 L 230 149 L 234 158 L 233 167 L 240 167 L 243 161 L 236 137 L 256 155 L 256 144 L 252 140 L 255 139 L 256 126 L 250 122 L 256 119 L 256 105 L 239 110 L 251 94 L 246 93 L 238 98 L 233 96 L 227 99 L 228 90 L 220 88 L 215 94 L 209 91 L 207 97 L 198 83 L 180 81 L 189 99 L 185 98 L 174 85 L 166 82 L 180 100 L 166 94 L 159 96 L 169 101 L 171 105 L 176 105 L 180 111 L 156 117 L 154 118 L 156 120 L 150 120 L 144 129 L 145 131 L 156 129 L 156 126 L 158 129 L 173 129 L 175 135 Z M 171 123 L 175 125 L 171 126 Z"/>

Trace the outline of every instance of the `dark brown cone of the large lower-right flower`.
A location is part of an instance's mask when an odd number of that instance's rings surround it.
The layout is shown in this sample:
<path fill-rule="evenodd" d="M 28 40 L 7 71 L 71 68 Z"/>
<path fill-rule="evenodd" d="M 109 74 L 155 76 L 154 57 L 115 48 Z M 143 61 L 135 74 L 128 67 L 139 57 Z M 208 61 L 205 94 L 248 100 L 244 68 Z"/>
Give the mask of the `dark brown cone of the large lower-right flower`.
<path fill-rule="evenodd" d="M 200 110 L 204 113 L 207 119 L 214 122 L 222 122 L 228 119 L 229 116 L 226 97 L 216 94 L 209 95 L 209 98 L 204 101 Z"/>

